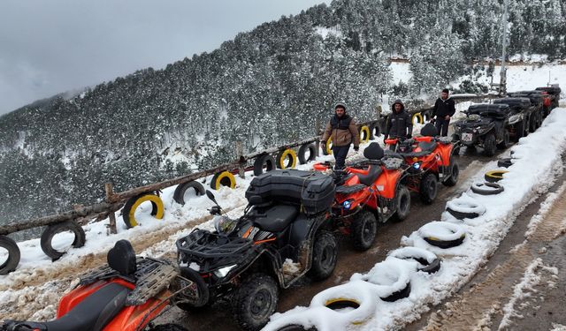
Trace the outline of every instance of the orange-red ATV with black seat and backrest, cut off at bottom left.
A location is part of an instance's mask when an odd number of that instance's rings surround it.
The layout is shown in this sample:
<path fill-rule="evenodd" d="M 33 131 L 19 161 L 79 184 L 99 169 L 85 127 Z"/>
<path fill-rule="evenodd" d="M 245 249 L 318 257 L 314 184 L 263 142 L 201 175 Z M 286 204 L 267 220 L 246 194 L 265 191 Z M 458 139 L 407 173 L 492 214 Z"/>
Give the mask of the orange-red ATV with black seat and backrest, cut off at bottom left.
<path fill-rule="evenodd" d="M 132 244 L 119 240 L 108 252 L 108 266 L 81 277 L 79 286 L 61 299 L 57 320 L 4 320 L 0 330 L 186 331 L 176 324 L 149 326 L 169 305 L 173 294 L 168 287 L 178 275 L 168 261 L 136 259 Z"/>

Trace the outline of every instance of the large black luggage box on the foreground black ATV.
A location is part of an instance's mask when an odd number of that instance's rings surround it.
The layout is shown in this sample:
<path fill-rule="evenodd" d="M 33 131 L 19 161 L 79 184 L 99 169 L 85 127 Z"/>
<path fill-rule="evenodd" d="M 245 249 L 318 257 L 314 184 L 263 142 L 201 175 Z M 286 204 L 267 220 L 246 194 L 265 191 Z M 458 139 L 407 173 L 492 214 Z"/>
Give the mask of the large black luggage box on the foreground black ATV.
<path fill-rule="evenodd" d="M 251 181 L 246 199 L 256 195 L 263 202 L 292 203 L 301 206 L 305 214 L 317 214 L 332 206 L 334 189 L 333 178 L 320 172 L 272 170 Z"/>

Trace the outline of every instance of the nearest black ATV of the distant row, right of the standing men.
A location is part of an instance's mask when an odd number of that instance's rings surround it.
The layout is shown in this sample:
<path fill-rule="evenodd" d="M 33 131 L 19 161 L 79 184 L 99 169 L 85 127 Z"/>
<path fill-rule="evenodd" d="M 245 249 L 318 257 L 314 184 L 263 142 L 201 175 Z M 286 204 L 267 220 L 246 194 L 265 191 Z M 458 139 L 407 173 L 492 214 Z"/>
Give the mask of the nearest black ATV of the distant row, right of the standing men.
<path fill-rule="evenodd" d="M 493 156 L 496 148 L 509 145 L 508 105 L 480 103 L 471 105 L 464 113 L 466 119 L 454 124 L 453 141 L 459 140 L 465 147 L 483 147 L 487 156 Z"/>

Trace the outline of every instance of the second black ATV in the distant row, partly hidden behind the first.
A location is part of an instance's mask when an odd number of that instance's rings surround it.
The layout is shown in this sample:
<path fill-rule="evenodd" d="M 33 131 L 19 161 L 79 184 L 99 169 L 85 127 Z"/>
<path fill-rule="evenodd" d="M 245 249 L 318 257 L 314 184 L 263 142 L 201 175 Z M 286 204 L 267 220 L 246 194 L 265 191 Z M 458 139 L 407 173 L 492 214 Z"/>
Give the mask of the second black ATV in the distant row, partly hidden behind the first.
<path fill-rule="evenodd" d="M 529 134 L 531 118 L 536 111 L 529 98 L 501 98 L 493 100 L 493 104 L 506 104 L 511 109 L 509 133 L 516 141 Z"/>

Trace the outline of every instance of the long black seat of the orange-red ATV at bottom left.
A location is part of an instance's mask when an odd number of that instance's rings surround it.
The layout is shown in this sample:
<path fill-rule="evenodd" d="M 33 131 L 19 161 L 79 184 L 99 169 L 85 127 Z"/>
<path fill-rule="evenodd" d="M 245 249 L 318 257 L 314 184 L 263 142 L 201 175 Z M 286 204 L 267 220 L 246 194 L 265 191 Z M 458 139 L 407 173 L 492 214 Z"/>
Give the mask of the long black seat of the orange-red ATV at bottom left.
<path fill-rule="evenodd" d="M 117 282 L 103 285 L 72 310 L 49 322 L 8 321 L 8 327 L 39 331 L 102 330 L 124 307 L 129 289 Z M 28 327 L 28 328 L 24 328 Z"/>

